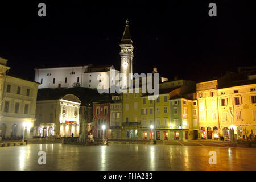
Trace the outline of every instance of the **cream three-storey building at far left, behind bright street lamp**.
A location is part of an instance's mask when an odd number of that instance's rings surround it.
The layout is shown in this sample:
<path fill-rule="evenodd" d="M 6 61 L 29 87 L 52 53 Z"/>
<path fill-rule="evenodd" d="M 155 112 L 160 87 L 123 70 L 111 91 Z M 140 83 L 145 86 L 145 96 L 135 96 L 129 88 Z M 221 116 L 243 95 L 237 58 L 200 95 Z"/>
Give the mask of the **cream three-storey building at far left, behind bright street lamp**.
<path fill-rule="evenodd" d="M 0 140 L 31 137 L 34 125 L 38 82 L 7 75 L 7 60 L 0 57 Z"/>

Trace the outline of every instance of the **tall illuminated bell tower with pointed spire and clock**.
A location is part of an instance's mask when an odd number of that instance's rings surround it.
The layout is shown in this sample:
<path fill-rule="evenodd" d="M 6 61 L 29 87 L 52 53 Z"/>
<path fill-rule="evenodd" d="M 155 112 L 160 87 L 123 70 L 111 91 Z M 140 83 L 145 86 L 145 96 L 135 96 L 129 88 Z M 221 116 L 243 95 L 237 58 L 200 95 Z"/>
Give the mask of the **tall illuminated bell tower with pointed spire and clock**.
<path fill-rule="evenodd" d="M 129 77 L 129 73 L 133 73 L 133 41 L 131 40 L 128 20 L 126 20 L 125 31 L 123 32 L 120 47 L 120 73 L 123 73 L 123 80 L 121 80 L 123 85 L 121 85 L 121 87 L 128 88 L 129 80 L 132 81 L 133 79 L 133 76 Z"/>

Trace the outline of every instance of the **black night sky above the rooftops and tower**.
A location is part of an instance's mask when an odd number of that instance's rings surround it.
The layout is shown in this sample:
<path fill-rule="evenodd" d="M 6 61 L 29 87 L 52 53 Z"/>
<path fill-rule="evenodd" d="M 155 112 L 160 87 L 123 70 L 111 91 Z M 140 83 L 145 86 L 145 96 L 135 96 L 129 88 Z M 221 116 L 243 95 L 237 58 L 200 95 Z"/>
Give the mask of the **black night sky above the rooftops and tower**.
<path fill-rule="evenodd" d="M 46 17 L 38 3 L 46 3 Z M 217 17 L 209 17 L 209 3 Z M 134 73 L 209 80 L 255 64 L 254 1 L 0 2 L 0 57 L 10 73 L 34 80 L 34 68 L 109 65 L 129 19 Z"/>

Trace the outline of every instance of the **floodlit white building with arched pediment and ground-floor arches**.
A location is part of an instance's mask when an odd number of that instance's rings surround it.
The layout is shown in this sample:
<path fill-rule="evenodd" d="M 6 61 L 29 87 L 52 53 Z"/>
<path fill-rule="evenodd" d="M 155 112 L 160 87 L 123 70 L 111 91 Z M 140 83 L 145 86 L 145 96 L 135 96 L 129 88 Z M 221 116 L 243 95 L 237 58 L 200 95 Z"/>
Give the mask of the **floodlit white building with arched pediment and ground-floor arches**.
<path fill-rule="evenodd" d="M 81 101 L 73 94 L 56 96 L 51 100 L 36 102 L 34 136 L 74 137 L 79 136 L 79 107 Z"/>

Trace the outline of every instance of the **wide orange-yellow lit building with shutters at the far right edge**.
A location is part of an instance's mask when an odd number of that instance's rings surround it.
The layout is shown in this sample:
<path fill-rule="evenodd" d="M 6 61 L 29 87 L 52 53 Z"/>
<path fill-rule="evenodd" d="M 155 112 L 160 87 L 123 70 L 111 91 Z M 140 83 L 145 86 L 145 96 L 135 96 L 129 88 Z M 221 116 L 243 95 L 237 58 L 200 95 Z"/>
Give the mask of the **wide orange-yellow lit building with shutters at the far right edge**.
<path fill-rule="evenodd" d="M 256 80 L 232 82 L 218 89 L 218 112 L 221 135 L 228 137 L 230 128 L 237 139 L 256 133 Z"/>

